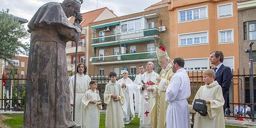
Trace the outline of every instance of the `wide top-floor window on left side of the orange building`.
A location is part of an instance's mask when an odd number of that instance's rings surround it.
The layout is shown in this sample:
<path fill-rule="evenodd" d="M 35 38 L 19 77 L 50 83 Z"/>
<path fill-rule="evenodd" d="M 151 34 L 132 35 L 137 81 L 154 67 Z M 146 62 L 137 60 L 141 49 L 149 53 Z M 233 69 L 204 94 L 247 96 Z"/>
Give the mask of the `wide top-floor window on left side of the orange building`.
<path fill-rule="evenodd" d="M 179 22 L 207 18 L 207 6 L 179 11 Z"/>

